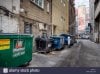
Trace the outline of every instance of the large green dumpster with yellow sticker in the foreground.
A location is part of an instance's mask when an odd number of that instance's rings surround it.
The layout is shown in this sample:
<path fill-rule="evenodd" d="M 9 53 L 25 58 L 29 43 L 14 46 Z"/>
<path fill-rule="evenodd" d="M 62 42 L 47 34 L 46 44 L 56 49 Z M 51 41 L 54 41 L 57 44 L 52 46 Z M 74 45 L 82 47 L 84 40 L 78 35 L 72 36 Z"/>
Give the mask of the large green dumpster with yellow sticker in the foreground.
<path fill-rule="evenodd" d="M 17 67 L 32 60 L 33 35 L 0 34 L 0 67 Z"/>

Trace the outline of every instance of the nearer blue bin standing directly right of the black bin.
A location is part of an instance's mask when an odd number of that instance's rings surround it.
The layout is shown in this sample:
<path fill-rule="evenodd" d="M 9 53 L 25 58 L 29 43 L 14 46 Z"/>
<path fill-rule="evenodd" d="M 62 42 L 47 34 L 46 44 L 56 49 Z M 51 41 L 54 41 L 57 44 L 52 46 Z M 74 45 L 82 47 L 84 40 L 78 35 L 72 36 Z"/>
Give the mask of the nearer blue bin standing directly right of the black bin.
<path fill-rule="evenodd" d="M 62 49 L 64 47 L 64 37 L 62 36 L 52 36 L 52 48 L 53 49 Z"/>

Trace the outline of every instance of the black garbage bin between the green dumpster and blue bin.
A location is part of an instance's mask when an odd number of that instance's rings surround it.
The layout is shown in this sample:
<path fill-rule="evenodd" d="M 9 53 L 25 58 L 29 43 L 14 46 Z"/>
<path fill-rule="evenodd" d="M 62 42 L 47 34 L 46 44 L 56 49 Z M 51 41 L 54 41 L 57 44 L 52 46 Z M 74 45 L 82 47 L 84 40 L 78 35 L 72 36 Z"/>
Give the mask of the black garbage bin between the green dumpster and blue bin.
<path fill-rule="evenodd" d="M 47 52 L 50 52 L 52 50 L 51 49 L 52 43 L 51 43 L 50 38 L 48 38 L 47 35 L 43 34 L 42 36 L 36 37 L 35 42 L 36 42 L 37 52 L 47 53 Z"/>

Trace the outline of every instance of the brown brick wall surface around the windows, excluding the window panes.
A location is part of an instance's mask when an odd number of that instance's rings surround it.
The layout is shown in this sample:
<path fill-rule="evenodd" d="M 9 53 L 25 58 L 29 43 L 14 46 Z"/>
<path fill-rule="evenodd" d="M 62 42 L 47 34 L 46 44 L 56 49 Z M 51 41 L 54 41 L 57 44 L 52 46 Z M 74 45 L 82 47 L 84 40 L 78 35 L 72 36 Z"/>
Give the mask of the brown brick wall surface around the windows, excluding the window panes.
<path fill-rule="evenodd" d="M 47 12 L 47 2 L 50 3 L 50 12 Z M 39 28 L 36 23 L 44 23 L 48 26 L 51 25 L 51 0 L 44 0 L 44 9 L 38 7 L 36 4 L 32 3 L 30 0 L 22 0 L 21 8 L 25 10 L 24 13 L 21 13 L 21 32 L 24 32 L 24 23 L 32 23 L 32 32 L 34 35 L 39 34 Z M 48 29 L 49 30 L 49 29 Z M 50 31 L 49 31 L 50 32 Z"/>

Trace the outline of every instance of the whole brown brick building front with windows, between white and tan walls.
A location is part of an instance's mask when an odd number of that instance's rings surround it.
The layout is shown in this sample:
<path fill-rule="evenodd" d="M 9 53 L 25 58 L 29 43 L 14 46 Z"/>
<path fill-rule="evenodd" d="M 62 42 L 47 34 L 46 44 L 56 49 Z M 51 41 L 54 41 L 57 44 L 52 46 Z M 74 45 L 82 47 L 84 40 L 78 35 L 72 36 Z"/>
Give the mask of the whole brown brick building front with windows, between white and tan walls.
<path fill-rule="evenodd" d="M 39 35 L 45 31 L 51 35 L 51 0 L 21 0 L 20 32 Z"/>

